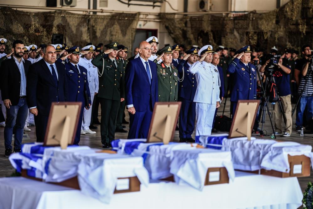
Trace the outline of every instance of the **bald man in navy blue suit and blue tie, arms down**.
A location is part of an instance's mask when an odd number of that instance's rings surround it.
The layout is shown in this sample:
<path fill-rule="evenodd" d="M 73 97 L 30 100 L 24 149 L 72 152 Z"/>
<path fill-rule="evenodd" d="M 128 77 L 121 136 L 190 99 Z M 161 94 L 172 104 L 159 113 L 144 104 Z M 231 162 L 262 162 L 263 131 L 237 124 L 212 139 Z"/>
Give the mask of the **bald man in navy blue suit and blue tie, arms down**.
<path fill-rule="evenodd" d="M 148 137 L 154 103 L 158 101 L 157 66 L 148 60 L 151 45 L 142 41 L 138 51 L 139 57 L 128 62 L 125 71 L 128 139 Z"/>

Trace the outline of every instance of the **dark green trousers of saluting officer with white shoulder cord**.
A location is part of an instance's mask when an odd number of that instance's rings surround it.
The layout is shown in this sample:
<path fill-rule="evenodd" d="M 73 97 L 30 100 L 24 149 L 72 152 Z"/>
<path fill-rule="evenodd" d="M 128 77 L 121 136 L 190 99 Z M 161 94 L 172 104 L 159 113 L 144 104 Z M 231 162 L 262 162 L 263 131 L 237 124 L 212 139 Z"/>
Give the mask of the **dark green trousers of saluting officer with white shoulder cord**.
<path fill-rule="evenodd" d="M 114 140 L 116 117 L 121 101 L 99 97 L 98 99 L 101 105 L 101 142 L 102 144 L 110 143 Z"/>

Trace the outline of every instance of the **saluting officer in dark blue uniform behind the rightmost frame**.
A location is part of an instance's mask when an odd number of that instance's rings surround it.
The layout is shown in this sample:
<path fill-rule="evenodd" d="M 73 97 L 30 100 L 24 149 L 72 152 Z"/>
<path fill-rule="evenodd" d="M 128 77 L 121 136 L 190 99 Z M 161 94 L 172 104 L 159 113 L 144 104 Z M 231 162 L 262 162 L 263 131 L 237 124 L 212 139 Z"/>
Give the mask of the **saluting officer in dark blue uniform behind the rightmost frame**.
<path fill-rule="evenodd" d="M 230 97 L 232 115 L 235 114 L 238 100 L 257 98 L 257 72 L 251 61 L 250 46 L 239 49 L 237 57 L 227 68 L 229 73 L 234 74 L 234 87 Z"/>

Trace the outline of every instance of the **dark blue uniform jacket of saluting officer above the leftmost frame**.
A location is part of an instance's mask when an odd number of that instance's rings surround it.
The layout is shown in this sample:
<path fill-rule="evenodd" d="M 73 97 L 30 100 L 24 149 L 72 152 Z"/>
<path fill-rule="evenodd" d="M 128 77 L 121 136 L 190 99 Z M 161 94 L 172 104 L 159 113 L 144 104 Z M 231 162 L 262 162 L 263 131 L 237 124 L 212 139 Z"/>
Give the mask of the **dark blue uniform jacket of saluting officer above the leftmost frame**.
<path fill-rule="evenodd" d="M 81 73 L 77 72 L 76 67 L 70 62 L 65 64 L 65 72 L 68 85 L 68 99 L 70 102 L 82 102 L 82 108 L 91 104 L 91 96 L 89 90 L 89 83 L 87 79 L 87 69 L 78 65 Z M 87 92 L 87 97 L 86 94 Z M 88 100 L 88 104 L 86 104 Z"/>

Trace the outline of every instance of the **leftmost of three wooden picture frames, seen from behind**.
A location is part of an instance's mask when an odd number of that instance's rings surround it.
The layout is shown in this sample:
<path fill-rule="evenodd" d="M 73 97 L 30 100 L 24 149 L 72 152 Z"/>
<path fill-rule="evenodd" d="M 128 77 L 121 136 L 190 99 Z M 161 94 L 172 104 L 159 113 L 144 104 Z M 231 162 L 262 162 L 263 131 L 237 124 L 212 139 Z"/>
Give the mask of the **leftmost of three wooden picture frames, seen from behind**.
<path fill-rule="evenodd" d="M 60 146 L 62 149 L 66 149 L 67 145 L 73 144 L 80 113 L 81 102 L 53 102 L 44 137 L 44 146 Z"/>

